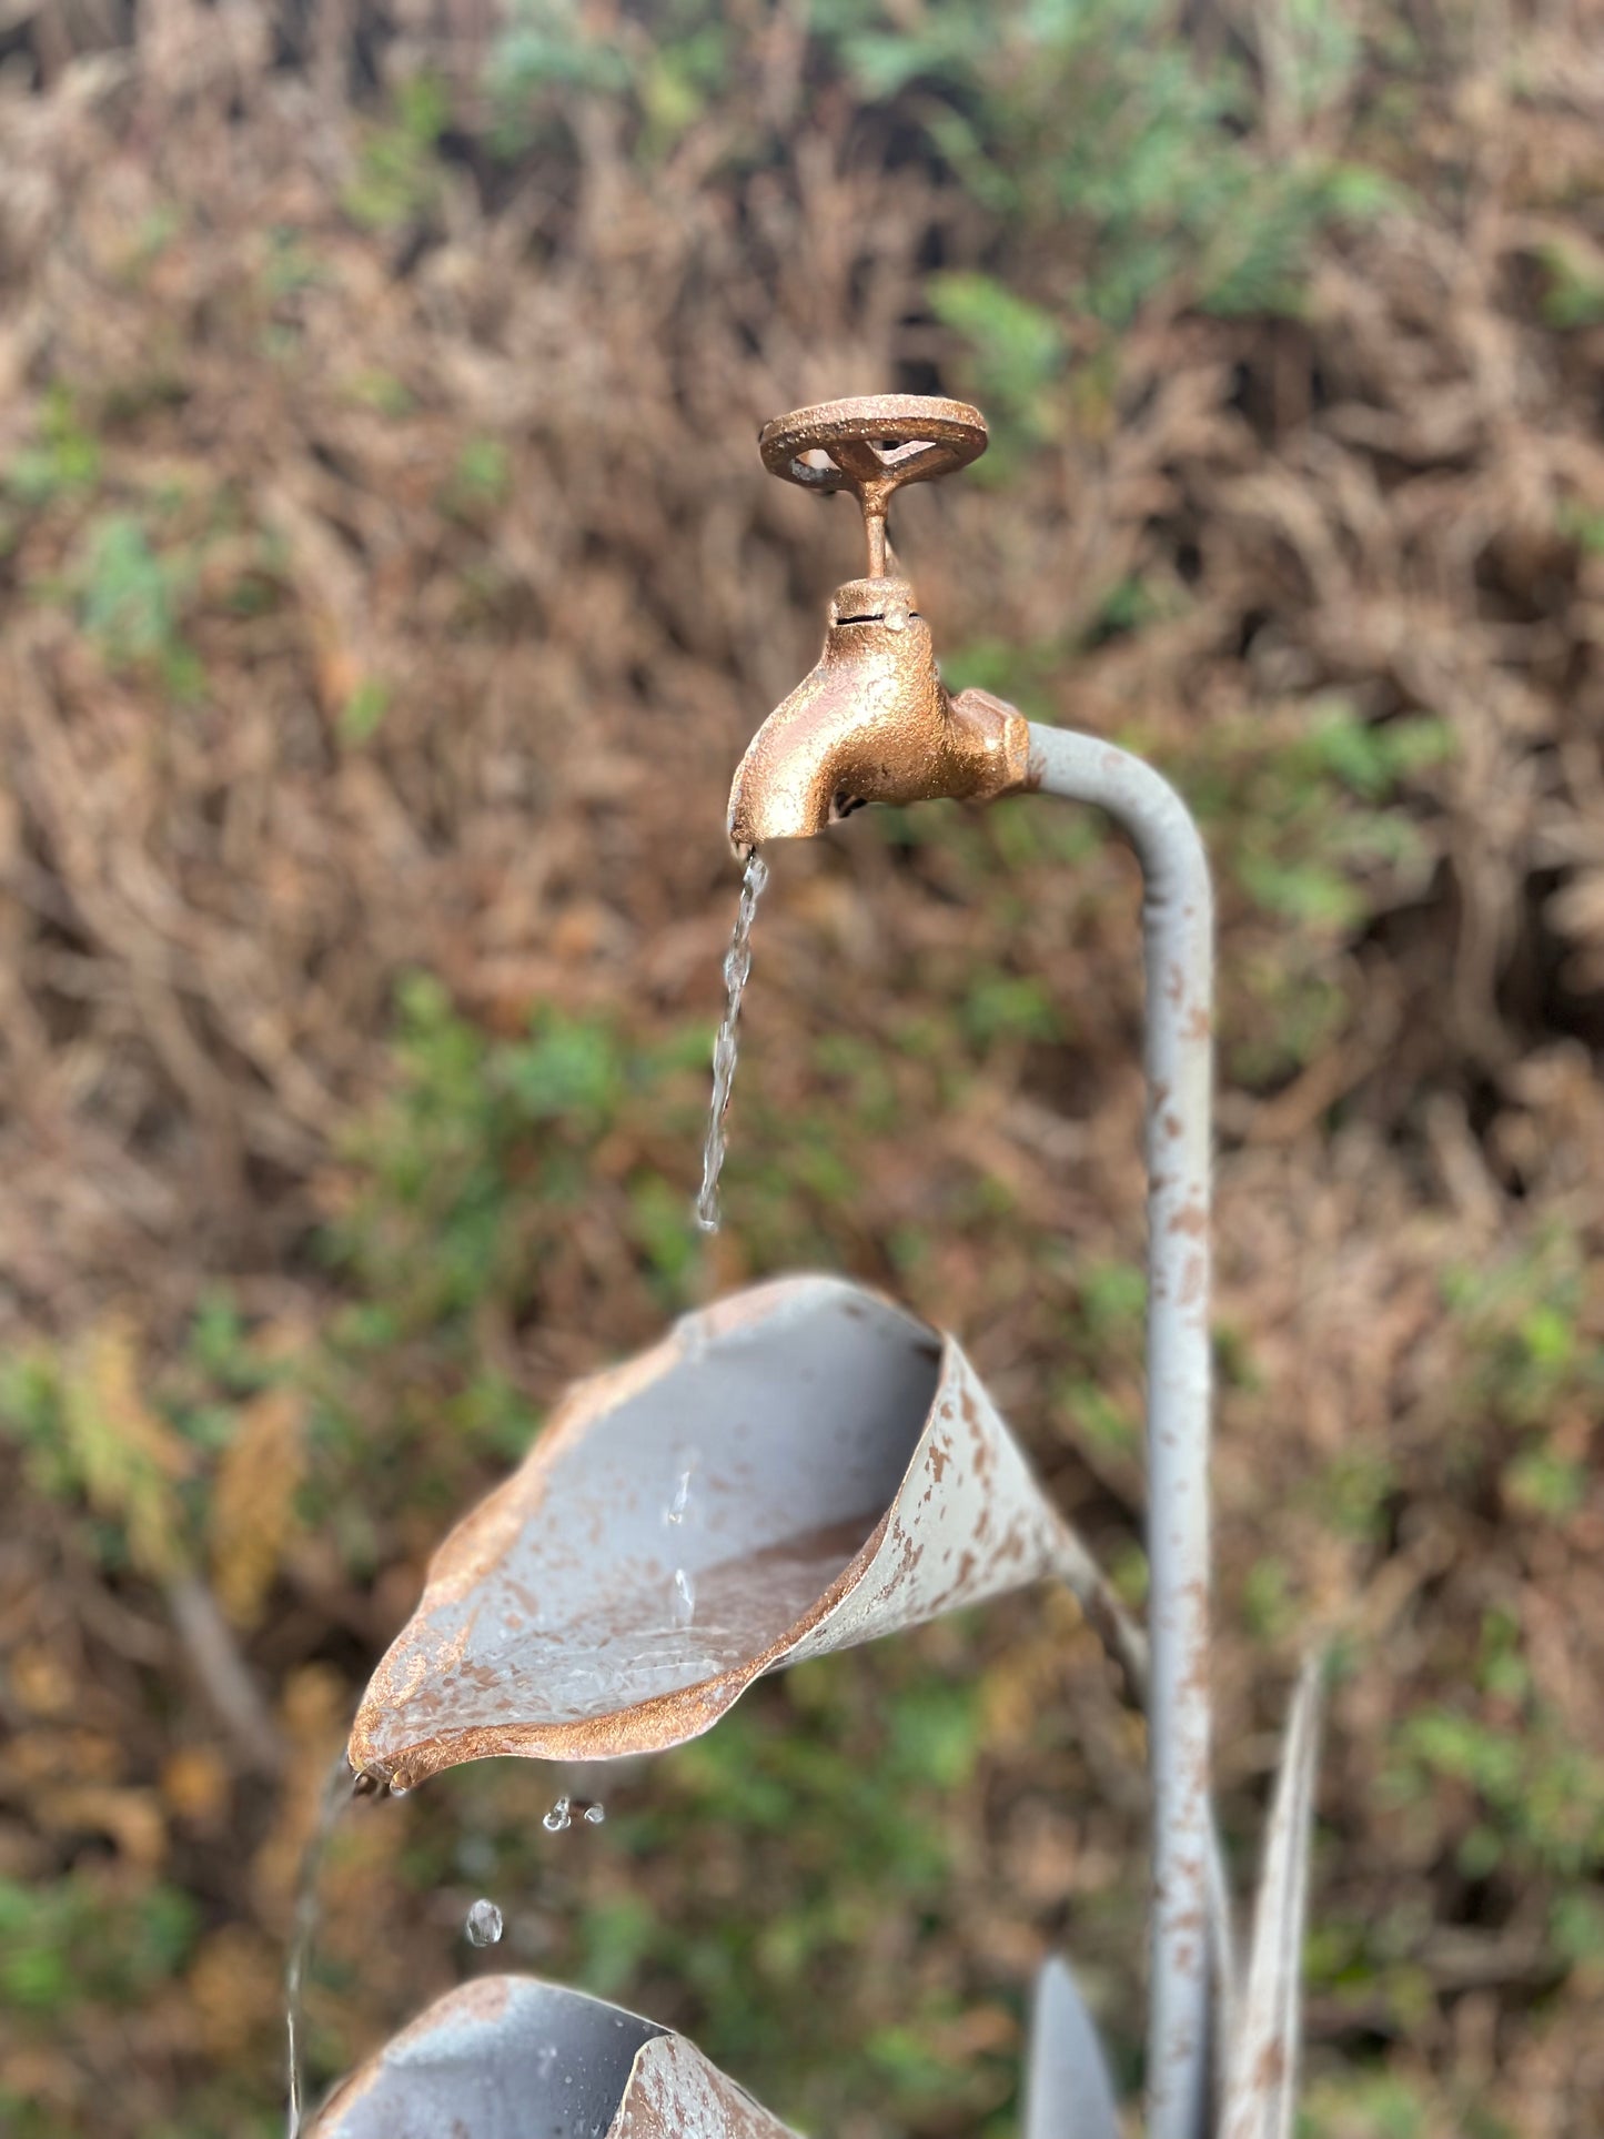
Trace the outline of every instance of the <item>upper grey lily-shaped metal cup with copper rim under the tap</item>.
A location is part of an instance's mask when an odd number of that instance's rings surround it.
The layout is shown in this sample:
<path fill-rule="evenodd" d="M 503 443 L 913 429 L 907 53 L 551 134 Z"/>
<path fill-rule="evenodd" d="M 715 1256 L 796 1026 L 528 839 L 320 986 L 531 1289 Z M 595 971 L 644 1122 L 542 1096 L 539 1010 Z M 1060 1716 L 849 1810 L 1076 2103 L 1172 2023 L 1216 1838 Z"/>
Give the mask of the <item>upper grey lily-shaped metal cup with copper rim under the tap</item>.
<path fill-rule="evenodd" d="M 580 1384 L 451 1532 L 351 1760 L 411 1788 L 488 1754 L 657 1752 L 764 1671 L 1067 1559 L 1084 1589 L 952 1339 L 834 1277 L 755 1286 Z"/>

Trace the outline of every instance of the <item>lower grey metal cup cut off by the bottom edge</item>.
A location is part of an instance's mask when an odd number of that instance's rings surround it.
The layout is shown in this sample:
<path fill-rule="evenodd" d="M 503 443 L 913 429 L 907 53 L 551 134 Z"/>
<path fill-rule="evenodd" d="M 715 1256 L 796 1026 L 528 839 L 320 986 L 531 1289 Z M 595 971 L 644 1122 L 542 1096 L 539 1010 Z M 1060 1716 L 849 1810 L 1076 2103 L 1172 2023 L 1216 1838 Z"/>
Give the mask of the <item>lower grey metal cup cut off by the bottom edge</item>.
<path fill-rule="evenodd" d="M 791 2139 L 684 2036 L 533 1976 L 447 1991 L 306 2139 Z"/>

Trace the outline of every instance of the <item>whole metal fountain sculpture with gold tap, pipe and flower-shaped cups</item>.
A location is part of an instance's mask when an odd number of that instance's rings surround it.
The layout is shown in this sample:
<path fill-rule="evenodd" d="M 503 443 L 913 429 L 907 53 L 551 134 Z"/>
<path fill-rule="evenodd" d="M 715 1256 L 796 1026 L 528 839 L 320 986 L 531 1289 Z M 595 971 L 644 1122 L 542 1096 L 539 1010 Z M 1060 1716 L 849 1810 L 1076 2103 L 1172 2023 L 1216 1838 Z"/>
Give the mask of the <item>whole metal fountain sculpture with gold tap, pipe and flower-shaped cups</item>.
<path fill-rule="evenodd" d="M 1057 1576 L 1148 1718 L 1146 2133 L 1285 2139 L 1317 1668 L 1294 1698 L 1238 1985 L 1208 1792 L 1208 866 L 1185 804 L 1142 759 L 941 682 L 930 625 L 894 571 L 888 505 L 984 447 L 975 409 L 913 396 L 828 402 L 761 432 L 774 475 L 858 496 L 868 569 L 836 590 L 817 667 L 740 761 L 729 838 L 751 862 L 866 802 L 1037 791 L 1097 804 L 1131 841 L 1146 890 L 1146 1630 L 952 1337 L 860 1286 L 791 1277 L 687 1315 L 569 1395 L 436 1553 L 349 1760 L 359 1786 L 400 1792 L 488 1754 L 657 1752 L 712 1728 L 766 1671 Z M 723 1061 L 714 1129 L 731 1050 Z M 704 1217 L 714 1176 L 716 1159 Z M 674 1510 L 691 1491 L 699 1519 L 684 1527 Z M 1024 2092 L 1027 2139 L 1119 2139 L 1097 2036 L 1059 1961 L 1037 1985 Z M 522 1976 L 434 2004 L 314 2122 L 319 2139 L 657 2128 L 783 2130 L 682 2038 Z"/>

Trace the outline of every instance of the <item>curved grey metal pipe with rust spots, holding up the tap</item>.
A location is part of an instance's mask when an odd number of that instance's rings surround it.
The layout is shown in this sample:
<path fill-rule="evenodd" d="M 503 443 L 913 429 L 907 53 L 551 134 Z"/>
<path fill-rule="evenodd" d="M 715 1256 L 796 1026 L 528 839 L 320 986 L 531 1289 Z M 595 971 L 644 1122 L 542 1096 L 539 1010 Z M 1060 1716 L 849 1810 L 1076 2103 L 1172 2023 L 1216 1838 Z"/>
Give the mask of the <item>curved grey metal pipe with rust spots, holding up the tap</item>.
<path fill-rule="evenodd" d="M 1148 1172 L 1148 2139 L 1208 2109 L 1208 1174 L 1213 892 L 1198 826 L 1140 757 L 1031 725 L 1031 785 L 1095 802 L 1142 864 Z"/>

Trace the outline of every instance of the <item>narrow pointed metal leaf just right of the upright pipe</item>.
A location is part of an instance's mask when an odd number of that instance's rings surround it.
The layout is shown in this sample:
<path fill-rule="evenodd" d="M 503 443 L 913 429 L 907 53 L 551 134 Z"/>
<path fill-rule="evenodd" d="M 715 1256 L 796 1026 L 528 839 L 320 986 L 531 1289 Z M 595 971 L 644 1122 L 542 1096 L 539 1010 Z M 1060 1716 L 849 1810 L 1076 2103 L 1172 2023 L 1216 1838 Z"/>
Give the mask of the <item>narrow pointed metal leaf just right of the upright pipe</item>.
<path fill-rule="evenodd" d="M 1221 2139 L 1287 2139 L 1302 2036 L 1302 1932 L 1309 1908 L 1309 1825 L 1320 1752 L 1320 1673 L 1311 1656 L 1298 1677 L 1264 1837 L 1264 1876 L 1253 1906 L 1253 1951 L 1236 2019 Z"/>

